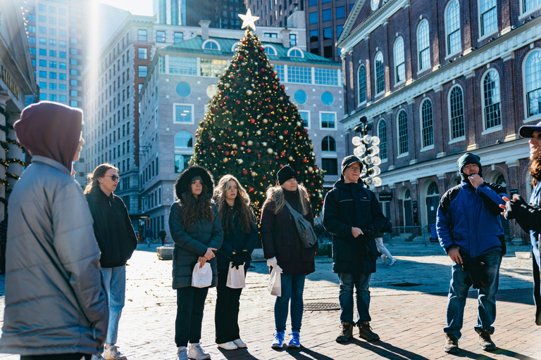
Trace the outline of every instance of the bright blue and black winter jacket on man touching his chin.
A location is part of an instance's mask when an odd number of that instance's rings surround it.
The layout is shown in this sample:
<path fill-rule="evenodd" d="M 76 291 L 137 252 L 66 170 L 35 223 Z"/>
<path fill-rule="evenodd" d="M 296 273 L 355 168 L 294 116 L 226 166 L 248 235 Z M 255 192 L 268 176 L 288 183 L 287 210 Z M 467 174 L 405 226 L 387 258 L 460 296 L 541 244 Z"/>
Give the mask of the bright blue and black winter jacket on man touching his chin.
<path fill-rule="evenodd" d="M 461 181 L 449 189 L 440 200 L 436 219 L 437 237 L 445 252 L 456 246 L 471 257 L 502 251 L 502 196 L 507 196 L 505 188 L 490 183 L 474 188 Z"/>

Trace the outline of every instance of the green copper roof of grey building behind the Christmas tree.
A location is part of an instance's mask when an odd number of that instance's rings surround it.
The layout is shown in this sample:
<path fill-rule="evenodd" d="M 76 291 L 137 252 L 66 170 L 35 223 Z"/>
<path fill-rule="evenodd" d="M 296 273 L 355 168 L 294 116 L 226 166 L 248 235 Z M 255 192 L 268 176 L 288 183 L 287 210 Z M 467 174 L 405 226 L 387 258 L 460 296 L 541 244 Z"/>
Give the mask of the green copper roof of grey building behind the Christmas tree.
<path fill-rule="evenodd" d="M 158 49 L 158 51 L 168 51 L 168 52 L 178 52 L 178 53 L 197 53 L 197 54 L 206 54 L 209 56 L 225 56 L 232 58 L 234 51 L 231 51 L 234 44 L 239 42 L 237 39 L 225 39 L 221 37 L 209 37 L 209 39 L 216 41 L 221 50 L 209 50 L 201 49 L 204 43 L 204 39 L 198 35 L 192 39 L 181 41 L 170 46 Z M 261 40 L 261 39 L 260 39 Z M 264 39 L 263 39 L 264 40 Z M 268 60 L 272 63 L 275 61 L 284 61 L 288 63 L 311 63 L 311 64 L 321 64 L 321 65 L 330 65 L 330 66 L 342 66 L 341 63 L 323 58 L 313 53 L 301 50 L 304 55 L 304 58 L 292 58 L 287 56 L 288 48 L 285 48 L 282 44 L 275 42 L 265 42 L 261 41 L 262 46 L 270 45 L 276 49 L 277 55 L 268 55 Z M 300 49 L 299 49 L 300 50 Z"/>

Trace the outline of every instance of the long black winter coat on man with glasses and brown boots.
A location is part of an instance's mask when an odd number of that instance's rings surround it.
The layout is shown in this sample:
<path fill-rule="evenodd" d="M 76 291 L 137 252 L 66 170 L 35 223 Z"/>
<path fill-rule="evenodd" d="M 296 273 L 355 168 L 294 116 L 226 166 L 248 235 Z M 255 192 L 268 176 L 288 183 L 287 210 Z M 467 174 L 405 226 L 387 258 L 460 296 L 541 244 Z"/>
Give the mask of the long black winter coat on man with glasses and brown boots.
<path fill-rule="evenodd" d="M 383 225 L 385 217 L 374 193 L 362 183 L 338 180 L 323 203 L 323 226 L 332 235 L 332 270 L 337 274 L 375 272 L 375 259 L 369 261 L 366 251 L 377 258 L 374 236 Z M 354 238 L 353 227 L 365 235 Z"/>

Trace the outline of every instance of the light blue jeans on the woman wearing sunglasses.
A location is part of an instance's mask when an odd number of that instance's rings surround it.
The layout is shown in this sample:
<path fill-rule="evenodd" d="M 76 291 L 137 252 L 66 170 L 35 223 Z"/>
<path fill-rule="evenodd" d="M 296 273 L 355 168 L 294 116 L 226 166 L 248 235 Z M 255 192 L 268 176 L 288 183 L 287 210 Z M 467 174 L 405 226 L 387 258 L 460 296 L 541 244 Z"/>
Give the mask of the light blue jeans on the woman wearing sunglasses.
<path fill-rule="evenodd" d="M 126 266 L 104 267 L 102 270 L 109 300 L 109 326 L 105 343 L 115 345 L 118 337 L 118 322 L 126 294 Z"/>

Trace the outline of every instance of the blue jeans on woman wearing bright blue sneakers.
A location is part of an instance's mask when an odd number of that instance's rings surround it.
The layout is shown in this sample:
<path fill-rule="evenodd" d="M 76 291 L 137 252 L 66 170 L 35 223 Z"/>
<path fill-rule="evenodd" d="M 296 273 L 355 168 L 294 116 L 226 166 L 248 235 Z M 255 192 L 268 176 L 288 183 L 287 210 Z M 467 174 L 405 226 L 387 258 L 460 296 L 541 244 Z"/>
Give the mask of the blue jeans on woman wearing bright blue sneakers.
<path fill-rule="evenodd" d="M 304 304 L 302 302 L 302 292 L 304 291 L 305 274 L 282 274 L 282 296 L 276 297 L 274 303 L 274 323 L 277 333 L 285 332 L 285 322 L 287 321 L 287 307 L 291 299 L 291 330 L 301 330 L 302 311 Z"/>

